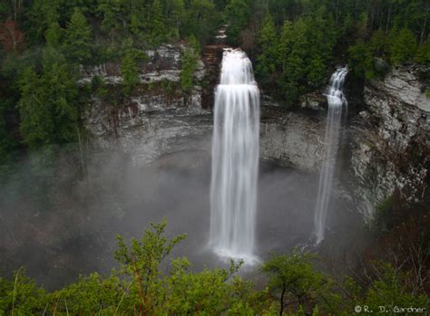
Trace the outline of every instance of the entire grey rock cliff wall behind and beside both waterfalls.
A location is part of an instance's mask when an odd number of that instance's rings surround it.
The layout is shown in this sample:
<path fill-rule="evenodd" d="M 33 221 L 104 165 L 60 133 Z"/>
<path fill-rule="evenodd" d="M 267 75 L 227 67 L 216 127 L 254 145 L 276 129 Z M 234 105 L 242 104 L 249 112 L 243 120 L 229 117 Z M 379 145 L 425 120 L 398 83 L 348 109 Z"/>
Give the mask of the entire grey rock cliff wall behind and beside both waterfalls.
<path fill-rule="evenodd" d="M 210 46 L 204 51 L 207 59 L 199 62 L 194 73 L 196 85 L 186 96 L 180 86 L 183 49 L 163 46 L 147 52 L 150 61 L 142 68 L 141 84 L 131 98 L 112 102 L 112 98 L 93 97 L 84 120 L 96 147 L 122 149 L 137 165 L 183 151 L 210 159 L 209 103 L 218 82 L 220 70 L 216 64 L 220 64 L 222 47 Z M 95 74 L 102 76 L 109 84 L 110 96 L 121 89 L 119 70 L 114 65 L 84 73 L 83 81 L 91 81 Z M 428 79 L 424 78 L 428 73 L 428 69 L 409 66 L 393 70 L 384 81 L 369 82 L 364 92 L 365 105 L 357 107 L 364 110 L 358 114 L 354 110 L 349 117 L 344 139 L 347 158 L 339 160 L 349 172 L 340 178 L 343 184 L 345 179 L 349 182 L 358 210 L 366 218 L 375 215 L 376 205 L 396 188 L 411 202 L 428 190 L 430 99 L 424 92 L 428 89 Z M 318 110 L 287 111 L 263 98 L 263 160 L 319 172 L 326 130 L 325 98 L 319 94 L 311 98 L 315 104 L 307 101 L 310 108 Z"/>

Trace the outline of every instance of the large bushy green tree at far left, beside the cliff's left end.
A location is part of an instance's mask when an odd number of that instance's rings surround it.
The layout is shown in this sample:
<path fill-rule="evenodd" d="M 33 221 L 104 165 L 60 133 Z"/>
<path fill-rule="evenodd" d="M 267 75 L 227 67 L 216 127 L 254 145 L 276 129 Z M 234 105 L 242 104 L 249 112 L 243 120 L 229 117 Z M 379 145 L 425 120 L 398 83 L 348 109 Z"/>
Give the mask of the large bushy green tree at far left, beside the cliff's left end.
<path fill-rule="evenodd" d="M 44 51 L 42 75 L 28 67 L 18 81 L 20 130 L 30 148 L 73 140 L 78 121 L 76 70 L 52 48 Z"/>

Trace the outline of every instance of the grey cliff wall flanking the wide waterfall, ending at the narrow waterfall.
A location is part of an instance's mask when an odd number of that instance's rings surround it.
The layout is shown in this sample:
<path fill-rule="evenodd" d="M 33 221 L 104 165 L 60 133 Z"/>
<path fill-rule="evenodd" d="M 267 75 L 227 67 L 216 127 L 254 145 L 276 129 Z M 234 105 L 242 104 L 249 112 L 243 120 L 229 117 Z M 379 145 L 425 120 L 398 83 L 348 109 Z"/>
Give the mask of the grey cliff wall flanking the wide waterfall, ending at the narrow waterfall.
<path fill-rule="evenodd" d="M 135 164 L 143 165 L 181 151 L 199 151 L 210 158 L 212 115 L 210 101 L 218 83 L 222 44 L 204 50 L 204 62 L 194 73 L 191 96 L 181 93 L 183 46 L 162 46 L 147 52 L 150 61 L 141 69 L 141 83 L 130 99 L 115 102 L 94 96 L 85 113 L 93 145 L 121 149 Z M 121 89 L 118 66 L 83 70 L 83 81 L 103 77 L 109 95 Z M 209 84 L 208 84 L 209 82 Z M 280 110 L 263 101 L 260 156 L 282 166 L 317 172 L 321 163 L 324 117 Z"/>

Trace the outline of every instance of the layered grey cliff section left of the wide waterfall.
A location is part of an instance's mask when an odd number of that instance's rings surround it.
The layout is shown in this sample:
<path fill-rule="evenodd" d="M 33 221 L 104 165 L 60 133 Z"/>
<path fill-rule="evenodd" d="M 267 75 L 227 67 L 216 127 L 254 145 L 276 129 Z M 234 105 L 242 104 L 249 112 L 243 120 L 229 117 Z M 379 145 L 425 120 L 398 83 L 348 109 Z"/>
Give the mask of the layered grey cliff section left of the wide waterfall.
<path fill-rule="evenodd" d="M 203 62 L 198 62 L 189 94 L 181 91 L 181 53 L 184 47 L 166 45 L 146 52 L 150 57 L 140 70 L 141 83 L 130 98 L 113 102 L 93 97 L 86 110 L 86 127 L 95 148 L 122 150 L 136 165 L 154 162 L 164 155 L 183 150 L 203 150 L 210 155 L 212 118 L 201 108 Z M 84 73 L 84 81 L 94 75 L 108 83 L 108 95 L 121 89 L 120 72 L 106 65 Z"/>

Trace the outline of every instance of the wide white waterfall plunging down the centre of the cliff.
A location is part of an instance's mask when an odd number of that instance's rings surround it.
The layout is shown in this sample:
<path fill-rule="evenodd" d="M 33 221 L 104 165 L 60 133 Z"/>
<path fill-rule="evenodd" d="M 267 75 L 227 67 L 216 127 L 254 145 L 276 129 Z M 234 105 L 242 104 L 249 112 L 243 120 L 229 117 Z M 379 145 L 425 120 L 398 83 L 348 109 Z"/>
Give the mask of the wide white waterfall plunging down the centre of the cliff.
<path fill-rule="evenodd" d="M 210 246 L 223 257 L 254 254 L 259 169 L 259 88 L 247 55 L 225 50 L 215 91 Z"/>

